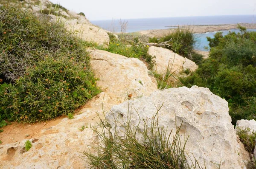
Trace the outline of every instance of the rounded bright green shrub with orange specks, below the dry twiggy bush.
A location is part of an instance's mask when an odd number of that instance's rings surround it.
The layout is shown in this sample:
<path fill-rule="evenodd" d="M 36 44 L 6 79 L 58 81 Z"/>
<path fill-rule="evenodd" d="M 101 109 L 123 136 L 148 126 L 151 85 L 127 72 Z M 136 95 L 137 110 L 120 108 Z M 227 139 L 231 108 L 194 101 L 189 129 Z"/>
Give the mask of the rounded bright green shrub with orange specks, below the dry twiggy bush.
<path fill-rule="evenodd" d="M 99 90 L 86 65 L 72 59 L 47 58 L 28 68 L 15 84 L 6 87 L 4 98 L 11 120 L 34 122 L 73 112 Z"/>

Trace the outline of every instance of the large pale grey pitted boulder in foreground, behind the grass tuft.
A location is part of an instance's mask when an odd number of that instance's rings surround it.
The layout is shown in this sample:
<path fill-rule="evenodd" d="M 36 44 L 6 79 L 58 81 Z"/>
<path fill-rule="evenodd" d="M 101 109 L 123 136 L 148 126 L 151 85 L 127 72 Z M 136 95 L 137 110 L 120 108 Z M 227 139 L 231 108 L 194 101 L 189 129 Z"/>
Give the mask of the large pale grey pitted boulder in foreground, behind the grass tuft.
<path fill-rule="evenodd" d="M 223 169 L 246 168 L 243 160 L 247 161 L 249 155 L 231 124 L 227 101 L 212 94 L 208 88 L 170 88 L 156 91 L 149 97 L 115 105 L 111 109 L 112 113 L 109 112 L 106 116 L 110 124 L 113 124 L 113 117 L 119 119 L 120 124 L 112 127 L 112 133 L 116 130 L 122 136 L 121 124 L 127 121 L 128 104 L 132 107 L 129 111 L 131 124 L 135 126 L 139 124 L 137 113 L 141 119 L 149 121 L 150 125 L 153 115 L 157 112 L 156 107 L 159 108 L 163 104 L 159 111 L 159 126 L 168 127 L 168 133 L 171 130 L 175 133 L 176 127 L 180 127 L 183 121 L 179 134 L 180 138 L 189 136 L 186 153 L 192 159 L 194 156 L 202 166 L 205 163 L 207 169 L 215 169 L 216 166 L 218 168 L 217 164 L 221 164 Z M 143 121 L 140 121 L 139 130 L 143 129 Z M 141 135 L 137 137 L 142 139 Z M 191 164 L 190 160 L 188 162 Z"/>

